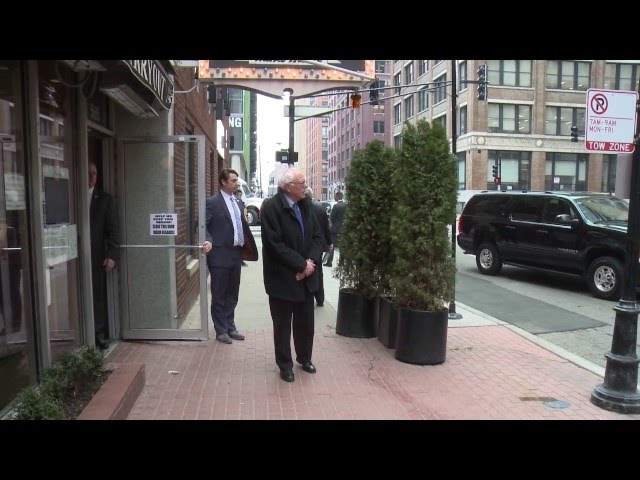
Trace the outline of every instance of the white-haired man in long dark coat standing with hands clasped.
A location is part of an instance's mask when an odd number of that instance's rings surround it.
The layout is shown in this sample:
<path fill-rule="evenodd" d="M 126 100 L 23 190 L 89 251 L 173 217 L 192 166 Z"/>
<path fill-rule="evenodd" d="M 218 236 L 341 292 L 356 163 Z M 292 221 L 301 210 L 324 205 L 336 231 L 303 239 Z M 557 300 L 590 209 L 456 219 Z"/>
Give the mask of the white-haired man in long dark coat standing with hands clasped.
<path fill-rule="evenodd" d="M 278 180 L 278 192 L 264 201 L 260 217 L 264 288 L 269 296 L 273 341 L 280 378 L 293 382 L 291 330 L 296 361 L 315 373 L 313 294 L 316 266 L 324 248 L 311 202 L 304 197 L 304 175 L 289 168 Z"/>

